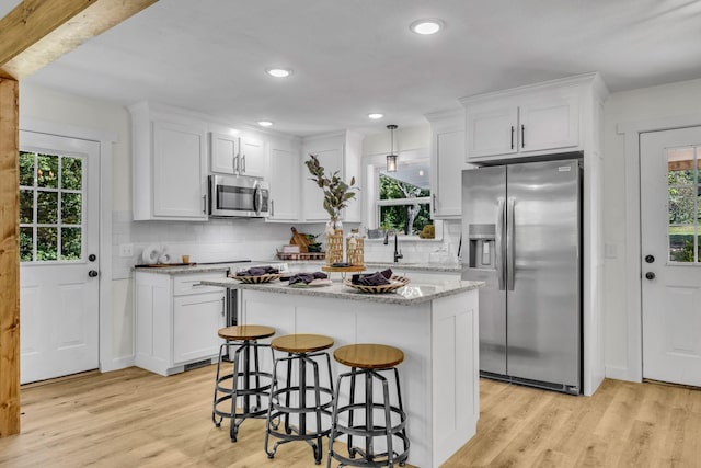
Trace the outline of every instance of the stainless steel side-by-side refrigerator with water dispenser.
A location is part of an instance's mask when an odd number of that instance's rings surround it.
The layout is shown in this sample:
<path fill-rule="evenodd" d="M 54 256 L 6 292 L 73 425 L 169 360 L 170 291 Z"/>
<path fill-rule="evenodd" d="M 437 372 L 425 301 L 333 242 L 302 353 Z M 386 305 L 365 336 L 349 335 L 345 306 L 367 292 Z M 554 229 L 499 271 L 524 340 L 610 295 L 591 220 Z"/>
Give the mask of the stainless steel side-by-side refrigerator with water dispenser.
<path fill-rule="evenodd" d="M 462 172 L 462 278 L 486 282 L 481 375 L 581 393 L 581 193 L 578 160 Z"/>

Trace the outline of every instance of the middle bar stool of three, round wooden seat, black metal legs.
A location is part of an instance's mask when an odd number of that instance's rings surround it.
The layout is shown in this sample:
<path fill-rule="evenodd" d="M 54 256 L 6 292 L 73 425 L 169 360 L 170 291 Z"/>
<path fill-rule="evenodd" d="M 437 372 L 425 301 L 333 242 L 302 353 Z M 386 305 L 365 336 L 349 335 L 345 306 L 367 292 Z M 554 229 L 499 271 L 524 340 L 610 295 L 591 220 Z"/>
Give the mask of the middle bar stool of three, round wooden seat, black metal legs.
<path fill-rule="evenodd" d="M 273 391 L 265 424 L 265 453 L 268 458 L 275 456 L 277 447 L 281 444 L 304 441 L 313 450 L 314 463 L 321 464 L 322 437 L 331 431 L 333 406 L 331 357 L 323 350 L 331 346 L 333 340 L 320 334 L 288 334 L 271 342 L 273 350 L 287 353 L 287 356 L 276 357 L 273 365 Z M 323 358 L 326 361 L 327 386 L 320 380 L 318 358 L 322 358 L 322 364 Z M 297 381 L 294 381 L 292 376 L 294 363 L 298 365 Z M 287 364 L 285 387 L 279 387 L 278 384 L 278 364 Z M 312 370 L 311 381 L 308 381 L 309 369 Z M 290 416 L 292 422 L 297 422 L 296 426 L 290 424 Z M 313 418 L 312 424 L 309 424 L 308 418 Z M 284 425 L 280 427 L 283 420 Z M 272 450 L 268 449 L 271 435 L 278 438 Z"/>

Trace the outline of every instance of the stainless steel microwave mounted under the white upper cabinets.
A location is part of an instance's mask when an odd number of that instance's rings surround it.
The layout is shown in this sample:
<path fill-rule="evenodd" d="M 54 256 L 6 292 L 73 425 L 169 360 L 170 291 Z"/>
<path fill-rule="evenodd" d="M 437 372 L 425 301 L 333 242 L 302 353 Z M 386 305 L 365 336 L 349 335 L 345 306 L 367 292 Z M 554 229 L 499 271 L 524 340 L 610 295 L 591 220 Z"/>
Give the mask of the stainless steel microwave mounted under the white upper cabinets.
<path fill-rule="evenodd" d="M 267 182 L 239 175 L 209 175 L 209 216 L 266 218 L 271 187 Z"/>

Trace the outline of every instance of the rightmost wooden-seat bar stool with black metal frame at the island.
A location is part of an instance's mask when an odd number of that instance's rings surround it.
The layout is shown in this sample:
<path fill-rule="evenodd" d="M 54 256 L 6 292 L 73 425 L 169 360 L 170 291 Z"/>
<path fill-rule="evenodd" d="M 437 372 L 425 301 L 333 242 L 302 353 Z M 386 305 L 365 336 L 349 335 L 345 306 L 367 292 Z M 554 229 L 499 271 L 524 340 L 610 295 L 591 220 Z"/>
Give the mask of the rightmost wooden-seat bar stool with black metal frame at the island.
<path fill-rule="evenodd" d="M 399 370 L 397 366 L 404 361 L 404 353 L 393 346 L 383 344 L 349 344 L 341 346 L 333 353 L 334 358 L 350 367 L 349 373 L 338 375 L 336 392 L 334 396 L 333 415 L 331 419 L 331 435 L 329 436 L 329 460 L 340 461 L 341 466 L 390 466 L 394 464 L 404 466 L 409 457 L 409 437 L 406 436 L 406 413 L 402 406 L 402 392 L 399 385 Z M 381 373 L 392 373 L 397 387 L 397 403 L 390 401 L 389 381 Z M 356 376 L 365 377 L 365 401 L 356 402 L 355 393 Z M 341 403 L 341 386 L 344 379 L 349 378 L 350 389 L 348 392 L 348 403 Z M 382 386 L 381 401 L 375 400 L 374 383 L 378 381 Z M 381 411 L 381 415 L 376 418 L 375 411 Z M 361 420 L 356 423 L 356 412 L 361 412 Z M 336 438 L 347 435 L 348 455 L 343 456 L 334 450 Z M 363 448 L 355 446 L 355 436 L 364 438 Z M 375 438 L 384 442 L 386 447 L 380 448 L 380 453 L 375 453 Z M 383 440 L 383 441 L 382 441 Z M 398 452 L 398 444 L 401 442 L 403 450 Z M 356 456 L 359 455 L 359 458 Z"/>

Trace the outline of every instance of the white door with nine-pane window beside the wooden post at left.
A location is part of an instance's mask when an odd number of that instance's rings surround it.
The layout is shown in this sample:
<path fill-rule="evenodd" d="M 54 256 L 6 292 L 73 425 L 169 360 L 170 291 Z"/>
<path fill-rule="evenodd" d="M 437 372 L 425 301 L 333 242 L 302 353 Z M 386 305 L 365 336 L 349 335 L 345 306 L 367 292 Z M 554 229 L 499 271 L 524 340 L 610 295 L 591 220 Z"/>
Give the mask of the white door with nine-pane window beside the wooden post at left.
<path fill-rule="evenodd" d="M 20 380 L 99 366 L 100 144 L 20 132 Z"/>

